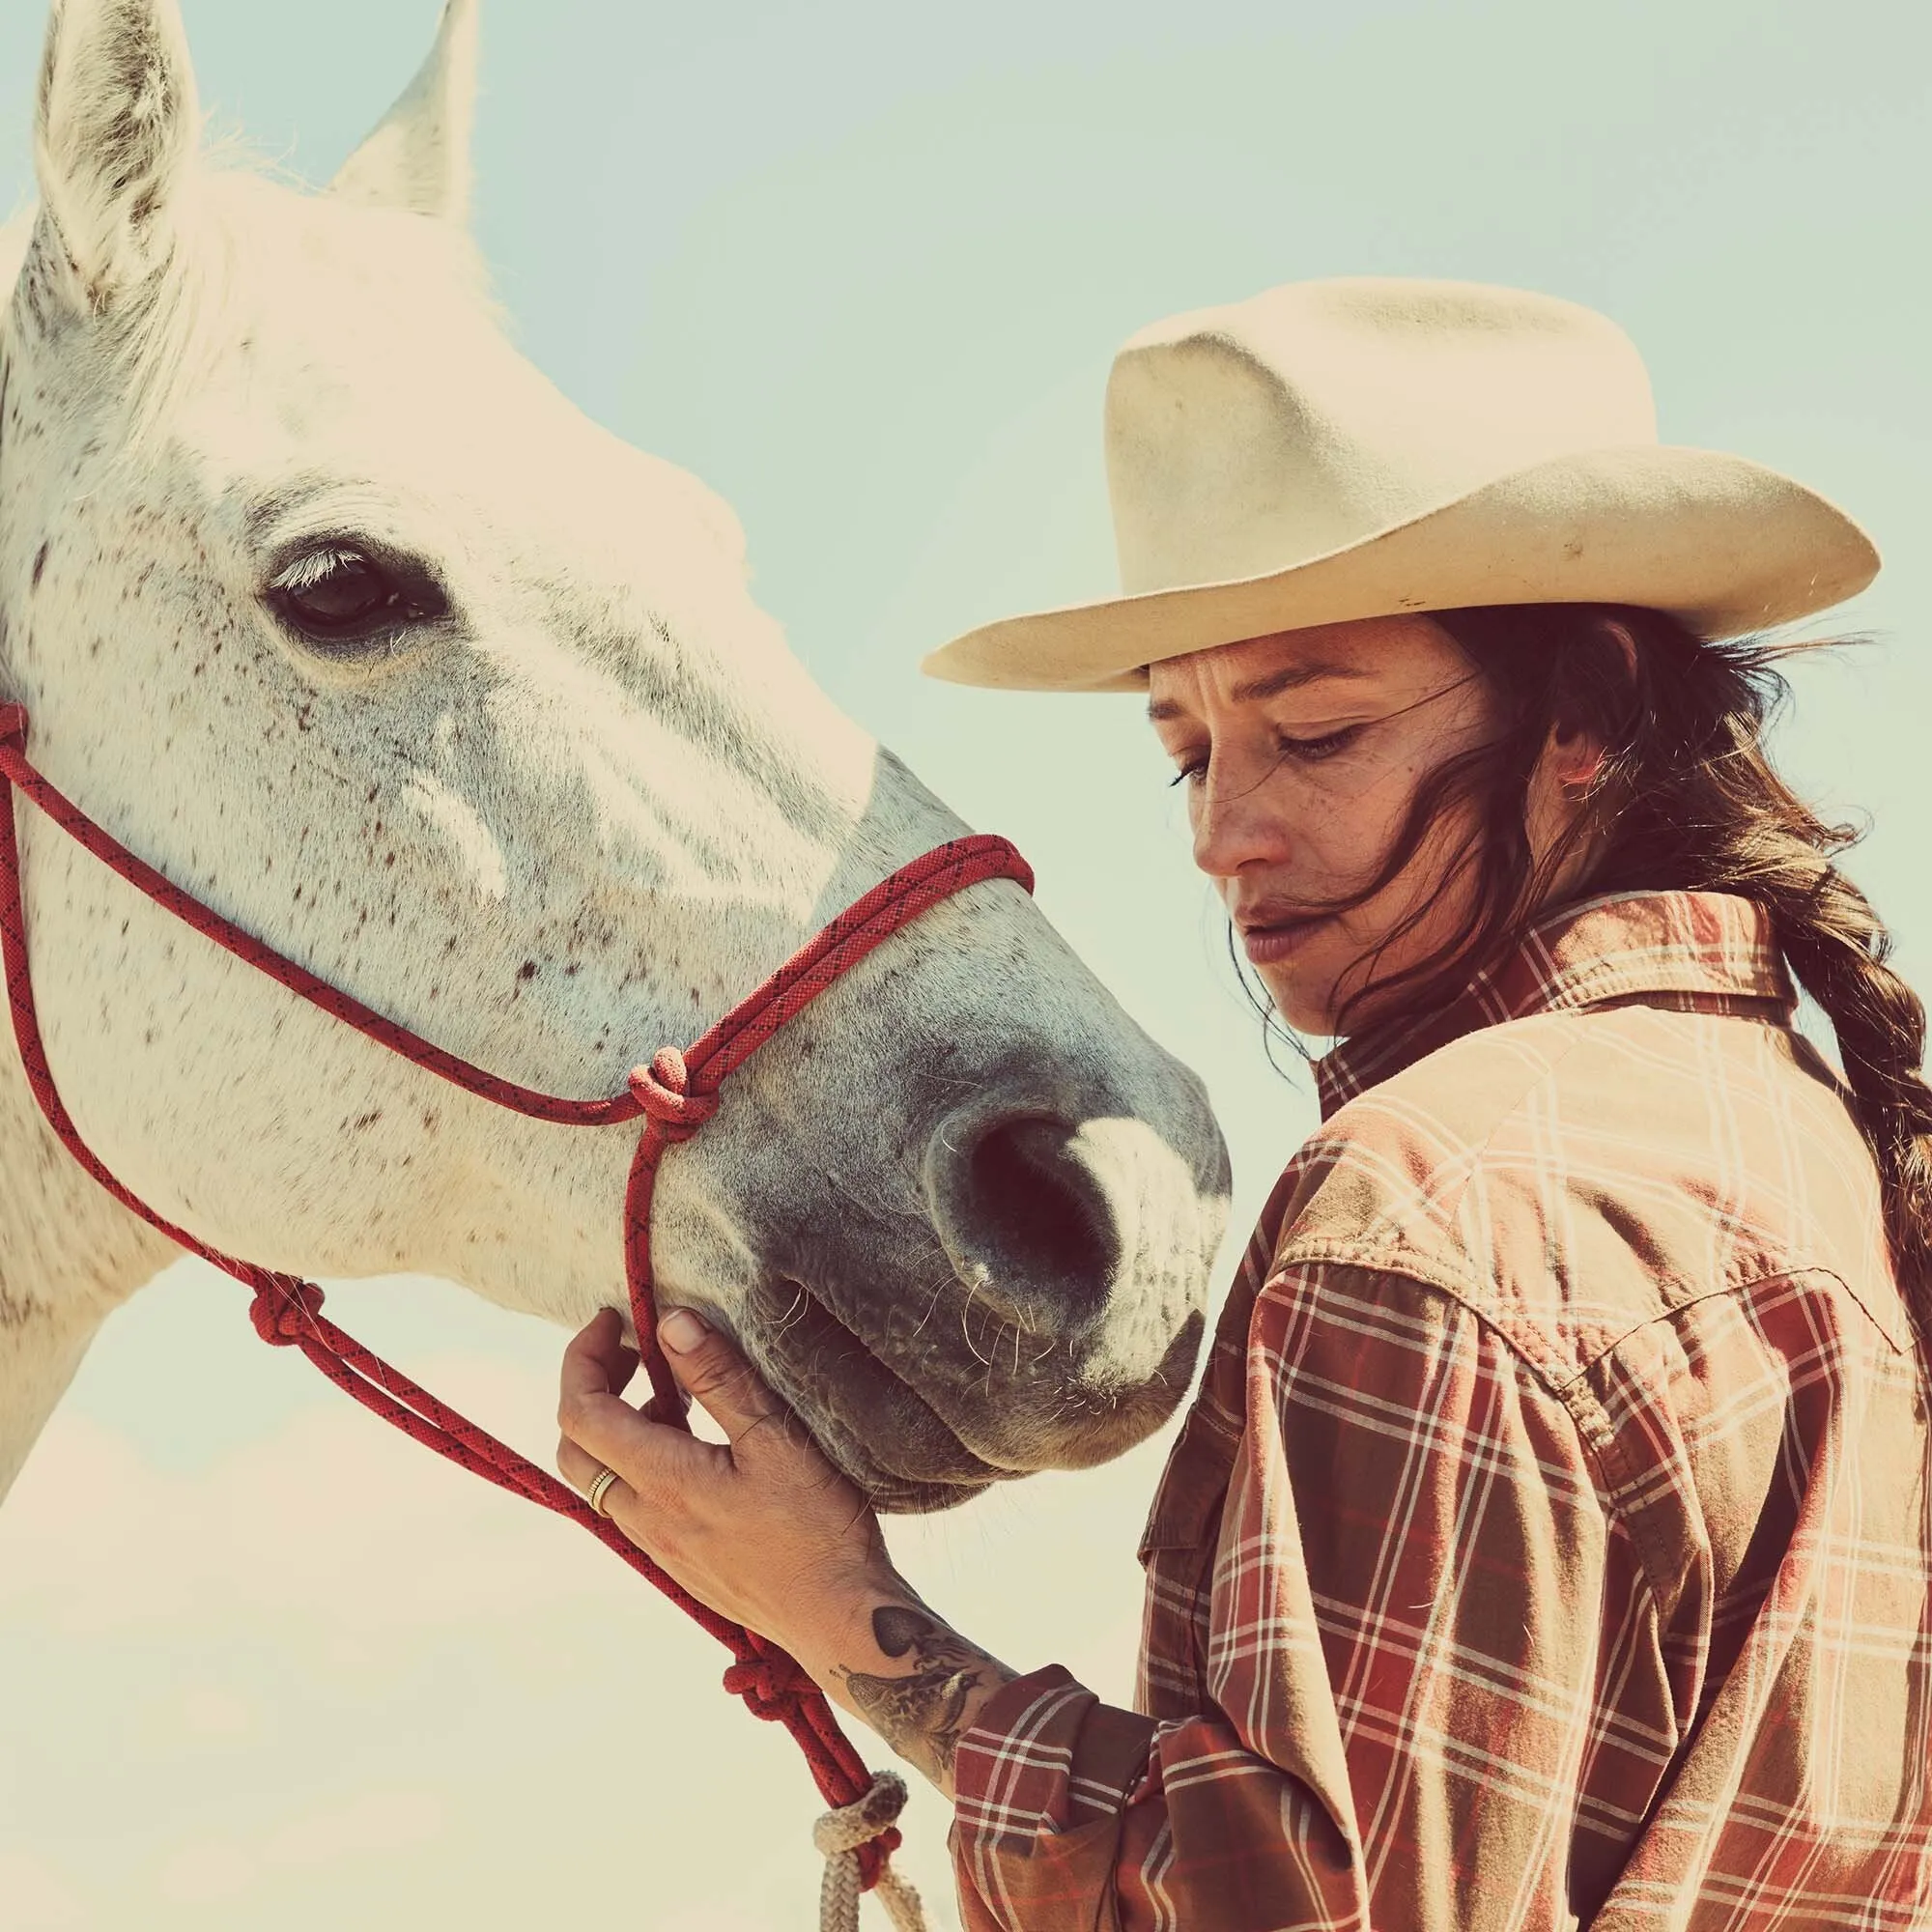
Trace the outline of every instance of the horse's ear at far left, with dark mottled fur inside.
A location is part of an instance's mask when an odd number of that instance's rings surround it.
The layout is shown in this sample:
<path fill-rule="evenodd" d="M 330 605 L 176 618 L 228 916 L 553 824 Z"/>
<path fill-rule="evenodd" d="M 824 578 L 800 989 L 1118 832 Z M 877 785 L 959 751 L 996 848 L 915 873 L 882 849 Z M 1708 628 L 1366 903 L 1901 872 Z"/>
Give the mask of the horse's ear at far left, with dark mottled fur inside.
<path fill-rule="evenodd" d="M 201 139 L 176 0 L 54 0 L 35 108 L 43 234 L 77 299 L 104 309 L 168 253 L 168 213 Z"/>

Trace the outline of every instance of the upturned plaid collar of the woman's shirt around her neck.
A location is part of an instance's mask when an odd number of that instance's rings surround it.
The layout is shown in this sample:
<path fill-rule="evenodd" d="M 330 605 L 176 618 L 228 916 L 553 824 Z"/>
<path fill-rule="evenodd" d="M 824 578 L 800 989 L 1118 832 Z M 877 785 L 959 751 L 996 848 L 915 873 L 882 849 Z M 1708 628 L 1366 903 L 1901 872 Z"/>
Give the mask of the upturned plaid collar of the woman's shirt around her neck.
<path fill-rule="evenodd" d="M 1731 893 L 1619 893 L 1530 927 L 1522 945 L 1422 1020 L 1352 1034 L 1316 1061 L 1325 1121 L 1358 1094 L 1482 1026 L 1611 1001 L 1789 1022 L 1797 1005 L 1772 916 Z"/>

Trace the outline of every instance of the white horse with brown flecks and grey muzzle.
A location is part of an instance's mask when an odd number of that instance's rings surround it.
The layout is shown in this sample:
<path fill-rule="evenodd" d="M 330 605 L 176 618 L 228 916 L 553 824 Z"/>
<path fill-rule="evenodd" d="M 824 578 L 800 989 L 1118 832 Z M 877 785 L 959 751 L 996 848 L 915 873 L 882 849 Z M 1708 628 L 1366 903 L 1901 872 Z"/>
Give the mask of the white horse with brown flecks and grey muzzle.
<path fill-rule="evenodd" d="M 468 1061 L 612 1094 L 958 821 L 752 603 L 730 512 L 504 340 L 471 0 L 327 195 L 199 155 L 174 0 L 56 4 L 0 396 L 0 697 L 178 885 Z M 624 1302 L 636 1128 L 437 1082 L 21 810 L 52 1070 L 160 1213 L 311 1275 Z M 887 1507 L 1099 1461 L 1192 1366 L 1198 1082 L 1012 885 L 925 916 L 670 1151 L 659 1294 Z M 0 1492 L 170 1256 L 0 1051 Z M 240 1310 L 238 1310 L 240 1320 Z"/>

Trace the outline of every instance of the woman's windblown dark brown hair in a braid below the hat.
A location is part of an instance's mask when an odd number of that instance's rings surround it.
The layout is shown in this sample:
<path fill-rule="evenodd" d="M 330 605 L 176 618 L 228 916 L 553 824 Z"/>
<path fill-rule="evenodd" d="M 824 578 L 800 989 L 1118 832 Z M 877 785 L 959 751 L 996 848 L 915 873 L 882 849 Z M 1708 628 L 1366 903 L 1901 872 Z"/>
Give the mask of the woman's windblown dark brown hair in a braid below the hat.
<path fill-rule="evenodd" d="M 1870 900 L 1837 869 L 1859 831 L 1812 811 L 1764 750 L 1789 697 L 1777 663 L 1803 647 L 1710 643 L 1658 611 L 1621 605 L 1493 605 L 1434 618 L 1488 682 L 1499 730 L 1430 775 L 1378 877 L 1349 898 L 1395 879 L 1451 800 L 1472 811 L 1480 837 L 1457 860 L 1470 916 L 1397 980 L 1370 972 L 1378 1012 L 1391 991 L 1405 1014 L 1453 999 L 1551 908 L 1565 867 L 1567 898 L 1708 891 L 1756 900 L 1837 1036 L 1853 1117 L 1878 1165 L 1893 1269 L 1932 1354 L 1926 1009 L 1888 964 L 1891 941 Z M 1605 757 L 1559 850 L 1536 860 L 1530 781 L 1551 734 L 1575 730 Z"/>

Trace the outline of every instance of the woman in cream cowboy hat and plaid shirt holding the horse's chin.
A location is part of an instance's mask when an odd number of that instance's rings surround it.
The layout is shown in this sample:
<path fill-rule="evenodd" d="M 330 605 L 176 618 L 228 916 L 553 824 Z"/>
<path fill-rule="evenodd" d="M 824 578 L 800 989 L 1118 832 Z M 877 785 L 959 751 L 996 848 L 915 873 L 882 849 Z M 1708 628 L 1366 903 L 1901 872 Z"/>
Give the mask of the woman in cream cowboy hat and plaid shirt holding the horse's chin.
<path fill-rule="evenodd" d="M 952 1795 L 976 1928 L 1932 1924 L 1924 1012 L 1719 641 L 1870 545 L 1507 290 L 1161 325 L 1109 466 L 1128 595 L 929 668 L 1144 684 L 1341 1036 L 1148 1520 L 1140 1710 L 922 1604 L 688 1310 L 732 1447 L 618 1401 L 607 1316 L 564 1474 Z"/>

